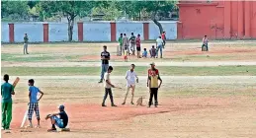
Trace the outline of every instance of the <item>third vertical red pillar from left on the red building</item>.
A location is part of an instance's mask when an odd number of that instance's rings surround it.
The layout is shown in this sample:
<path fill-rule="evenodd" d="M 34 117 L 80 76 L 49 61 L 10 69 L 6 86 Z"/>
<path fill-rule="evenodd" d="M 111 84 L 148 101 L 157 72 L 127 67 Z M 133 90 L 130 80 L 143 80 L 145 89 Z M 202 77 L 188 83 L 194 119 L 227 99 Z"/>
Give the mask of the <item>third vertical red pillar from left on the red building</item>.
<path fill-rule="evenodd" d="M 251 37 L 251 1 L 244 2 L 245 38 Z"/>

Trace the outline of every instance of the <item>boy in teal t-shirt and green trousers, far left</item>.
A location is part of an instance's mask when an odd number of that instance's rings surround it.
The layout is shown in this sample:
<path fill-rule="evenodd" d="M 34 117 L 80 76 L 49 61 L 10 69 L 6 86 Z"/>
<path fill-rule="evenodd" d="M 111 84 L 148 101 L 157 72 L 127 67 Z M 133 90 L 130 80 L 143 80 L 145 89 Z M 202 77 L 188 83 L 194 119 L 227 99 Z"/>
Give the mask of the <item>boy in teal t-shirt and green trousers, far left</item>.
<path fill-rule="evenodd" d="M 13 85 L 9 84 L 9 75 L 4 75 L 5 83 L 1 86 L 2 95 L 2 129 L 9 130 L 12 120 L 12 95 L 15 95 Z"/>

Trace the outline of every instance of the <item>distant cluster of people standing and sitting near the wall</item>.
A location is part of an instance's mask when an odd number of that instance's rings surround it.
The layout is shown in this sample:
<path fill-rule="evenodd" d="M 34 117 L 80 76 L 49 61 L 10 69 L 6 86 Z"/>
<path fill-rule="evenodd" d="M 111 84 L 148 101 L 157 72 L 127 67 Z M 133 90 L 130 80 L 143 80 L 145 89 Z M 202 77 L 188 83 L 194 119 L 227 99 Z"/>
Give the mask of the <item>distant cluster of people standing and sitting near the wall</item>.
<path fill-rule="evenodd" d="M 152 45 L 152 48 L 149 50 L 151 58 L 158 57 L 158 51 L 160 52 L 160 58 L 162 58 L 162 51 L 165 46 L 166 34 L 162 33 L 156 39 L 156 46 Z M 128 60 L 128 55 L 135 55 L 137 58 L 141 58 L 141 39 L 140 35 L 135 36 L 133 33 L 130 34 L 130 37 L 127 34 L 121 34 L 119 37 L 119 46 L 117 47 L 117 55 L 124 55 L 125 61 Z M 131 51 L 131 52 L 130 52 Z M 147 50 L 143 48 L 142 57 L 147 57 Z"/>

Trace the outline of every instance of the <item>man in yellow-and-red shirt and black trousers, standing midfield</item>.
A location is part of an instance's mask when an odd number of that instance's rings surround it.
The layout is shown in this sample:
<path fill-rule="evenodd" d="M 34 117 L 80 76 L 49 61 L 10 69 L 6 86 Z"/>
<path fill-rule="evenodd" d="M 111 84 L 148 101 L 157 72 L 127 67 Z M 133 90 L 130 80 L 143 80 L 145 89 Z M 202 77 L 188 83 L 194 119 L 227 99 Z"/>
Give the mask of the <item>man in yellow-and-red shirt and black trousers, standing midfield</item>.
<path fill-rule="evenodd" d="M 158 85 L 158 80 L 160 81 L 160 84 Z M 160 78 L 159 74 L 156 73 L 156 69 L 151 70 L 151 75 L 148 76 L 148 86 L 150 90 L 150 98 L 148 102 L 148 107 L 151 106 L 152 104 L 152 99 L 154 97 L 154 102 L 155 102 L 155 107 L 158 105 L 158 99 L 157 99 L 157 94 L 158 94 L 158 89 L 162 85 L 162 79 Z"/>

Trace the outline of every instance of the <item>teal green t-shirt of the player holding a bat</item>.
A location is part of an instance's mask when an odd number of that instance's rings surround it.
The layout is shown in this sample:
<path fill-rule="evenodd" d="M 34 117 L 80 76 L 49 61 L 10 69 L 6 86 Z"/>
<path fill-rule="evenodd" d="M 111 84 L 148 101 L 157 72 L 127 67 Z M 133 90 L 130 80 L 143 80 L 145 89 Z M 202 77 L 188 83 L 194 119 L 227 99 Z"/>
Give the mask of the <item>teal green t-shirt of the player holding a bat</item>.
<path fill-rule="evenodd" d="M 4 83 L 1 86 L 2 103 L 12 103 L 12 92 L 14 92 L 13 85 Z"/>

